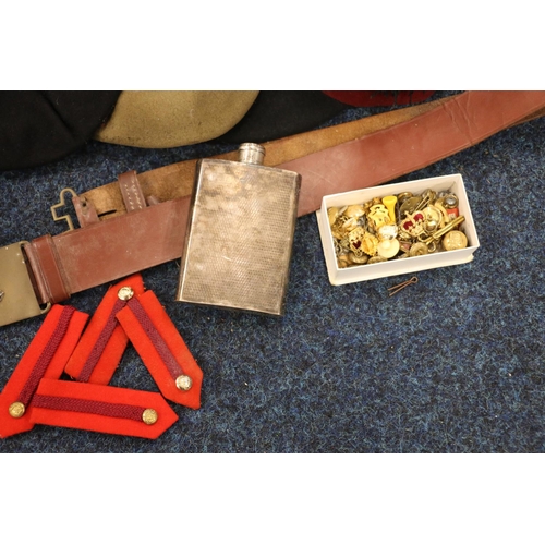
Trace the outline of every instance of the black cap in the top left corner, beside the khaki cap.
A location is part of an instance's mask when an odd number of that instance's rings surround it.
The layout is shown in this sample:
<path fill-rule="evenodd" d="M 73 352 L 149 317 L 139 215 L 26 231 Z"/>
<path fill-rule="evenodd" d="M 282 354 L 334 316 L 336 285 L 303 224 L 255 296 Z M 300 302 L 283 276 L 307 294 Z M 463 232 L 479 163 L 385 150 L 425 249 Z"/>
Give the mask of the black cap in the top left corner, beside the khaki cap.
<path fill-rule="evenodd" d="M 110 117 L 119 90 L 0 92 L 0 170 L 38 167 L 82 147 Z"/>

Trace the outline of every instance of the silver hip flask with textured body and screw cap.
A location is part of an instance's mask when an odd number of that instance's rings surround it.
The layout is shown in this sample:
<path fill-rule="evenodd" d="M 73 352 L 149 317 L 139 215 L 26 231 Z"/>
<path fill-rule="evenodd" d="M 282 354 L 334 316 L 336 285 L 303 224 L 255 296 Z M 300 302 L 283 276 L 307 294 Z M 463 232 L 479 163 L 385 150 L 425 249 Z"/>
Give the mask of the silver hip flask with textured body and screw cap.
<path fill-rule="evenodd" d="M 239 161 L 198 161 L 178 301 L 283 314 L 301 177 L 264 154 L 242 144 Z"/>

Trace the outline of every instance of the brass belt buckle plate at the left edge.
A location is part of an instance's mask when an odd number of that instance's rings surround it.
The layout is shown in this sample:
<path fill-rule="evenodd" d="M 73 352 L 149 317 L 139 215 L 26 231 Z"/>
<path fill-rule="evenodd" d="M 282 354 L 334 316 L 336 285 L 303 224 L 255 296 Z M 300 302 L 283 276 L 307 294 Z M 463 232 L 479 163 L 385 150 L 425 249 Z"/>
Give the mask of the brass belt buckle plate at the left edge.
<path fill-rule="evenodd" d="M 51 303 L 40 305 L 31 280 L 23 245 L 0 247 L 0 327 L 45 314 Z"/>

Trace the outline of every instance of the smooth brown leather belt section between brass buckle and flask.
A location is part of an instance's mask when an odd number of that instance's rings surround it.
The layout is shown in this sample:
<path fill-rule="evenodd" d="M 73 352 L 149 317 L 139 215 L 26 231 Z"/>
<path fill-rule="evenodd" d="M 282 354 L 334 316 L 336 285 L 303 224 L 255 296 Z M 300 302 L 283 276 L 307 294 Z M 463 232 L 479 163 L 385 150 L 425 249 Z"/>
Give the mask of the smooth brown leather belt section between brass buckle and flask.
<path fill-rule="evenodd" d="M 168 201 L 24 246 L 40 304 L 181 256 L 190 199 Z"/>

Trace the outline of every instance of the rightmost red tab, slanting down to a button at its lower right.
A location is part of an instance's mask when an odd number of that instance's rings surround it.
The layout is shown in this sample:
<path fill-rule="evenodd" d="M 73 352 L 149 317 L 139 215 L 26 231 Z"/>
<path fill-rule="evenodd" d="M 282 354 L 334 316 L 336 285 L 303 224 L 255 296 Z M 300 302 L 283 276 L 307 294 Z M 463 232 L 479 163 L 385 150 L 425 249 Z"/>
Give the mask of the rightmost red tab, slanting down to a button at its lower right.
<path fill-rule="evenodd" d="M 198 409 L 203 372 L 155 293 L 146 291 L 131 299 L 117 316 L 161 393 L 175 403 Z M 187 390 L 177 386 L 183 375 L 191 378 Z"/>

